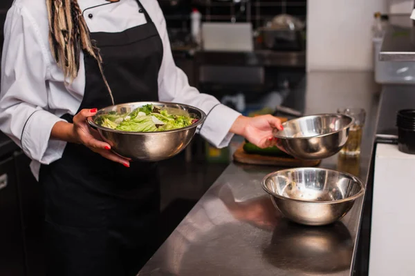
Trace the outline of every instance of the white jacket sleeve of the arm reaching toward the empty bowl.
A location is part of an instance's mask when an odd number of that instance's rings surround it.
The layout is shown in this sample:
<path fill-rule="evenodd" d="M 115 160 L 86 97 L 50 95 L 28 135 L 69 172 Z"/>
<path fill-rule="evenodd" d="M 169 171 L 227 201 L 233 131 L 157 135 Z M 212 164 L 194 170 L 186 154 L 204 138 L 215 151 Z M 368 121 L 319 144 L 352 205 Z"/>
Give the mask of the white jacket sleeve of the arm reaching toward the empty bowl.
<path fill-rule="evenodd" d="M 156 2 L 156 1 L 154 1 Z M 157 2 L 155 3 L 156 5 Z M 158 31 L 163 41 L 163 62 L 158 77 L 158 95 L 160 101 L 185 103 L 200 108 L 208 118 L 199 128 L 199 133 L 217 148 L 228 146 L 232 133 L 230 128 L 241 114 L 227 106 L 223 106 L 213 96 L 200 93 L 189 85 L 185 72 L 174 63 L 172 49 L 167 34 L 165 17 L 158 8 Z"/>

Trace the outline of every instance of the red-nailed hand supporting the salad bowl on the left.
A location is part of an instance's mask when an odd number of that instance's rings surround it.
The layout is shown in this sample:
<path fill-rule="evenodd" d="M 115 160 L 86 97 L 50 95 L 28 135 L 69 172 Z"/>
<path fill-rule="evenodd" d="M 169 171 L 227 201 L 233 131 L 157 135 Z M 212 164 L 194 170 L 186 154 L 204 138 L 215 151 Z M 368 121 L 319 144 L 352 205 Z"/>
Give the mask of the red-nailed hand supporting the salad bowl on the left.
<path fill-rule="evenodd" d="M 57 122 L 53 126 L 50 138 L 83 144 L 93 152 L 102 155 L 102 157 L 129 167 L 129 161 L 111 152 L 111 145 L 102 141 L 98 131 L 93 130 L 86 122 L 86 119 L 95 115 L 97 111 L 96 108 L 81 110 L 73 117 L 73 124 L 64 121 Z"/>

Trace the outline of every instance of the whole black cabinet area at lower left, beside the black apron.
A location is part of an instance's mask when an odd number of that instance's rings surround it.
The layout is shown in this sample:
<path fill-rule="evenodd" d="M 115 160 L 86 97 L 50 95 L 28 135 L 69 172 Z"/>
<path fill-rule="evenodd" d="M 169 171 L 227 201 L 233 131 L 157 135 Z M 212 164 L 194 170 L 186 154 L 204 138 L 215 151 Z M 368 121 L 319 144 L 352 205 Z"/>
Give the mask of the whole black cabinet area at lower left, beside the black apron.
<path fill-rule="evenodd" d="M 0 143 L 0 275 L 43 276 L 42 190 L 30 159 L 11 141 Z"/>

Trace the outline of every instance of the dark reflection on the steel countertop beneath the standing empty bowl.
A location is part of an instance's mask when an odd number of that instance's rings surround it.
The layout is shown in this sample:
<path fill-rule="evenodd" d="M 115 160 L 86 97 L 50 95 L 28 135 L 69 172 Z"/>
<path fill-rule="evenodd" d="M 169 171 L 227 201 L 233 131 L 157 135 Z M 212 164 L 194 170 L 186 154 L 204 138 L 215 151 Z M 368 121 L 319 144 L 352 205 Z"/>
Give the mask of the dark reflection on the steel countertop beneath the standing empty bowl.
<path fill-rule="evenodd" d="M 341 273 L 350 268 L 353 244 L 349 229 L 340 221 L 306 227 L 281 219 L 264 257 L 282 270 L 308 275 Z"/>

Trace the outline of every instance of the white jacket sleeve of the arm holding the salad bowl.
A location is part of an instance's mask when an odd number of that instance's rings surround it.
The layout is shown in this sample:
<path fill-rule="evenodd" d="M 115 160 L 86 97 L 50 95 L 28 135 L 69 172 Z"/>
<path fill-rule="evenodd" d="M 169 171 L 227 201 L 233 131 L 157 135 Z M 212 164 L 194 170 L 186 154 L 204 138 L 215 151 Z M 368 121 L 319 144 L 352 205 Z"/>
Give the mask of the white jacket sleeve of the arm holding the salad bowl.
<path fill-rule="evenodd" d="M 1 60 L 0 130 L 42 164 L 62 157 L 66 145 L 50 140 L 59 117 L 48 112 L 48 54 L 35 20 L 14 5 L 4 27 Z"/>

